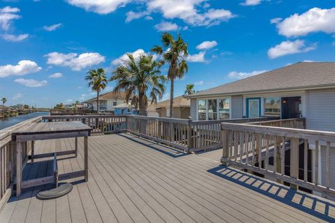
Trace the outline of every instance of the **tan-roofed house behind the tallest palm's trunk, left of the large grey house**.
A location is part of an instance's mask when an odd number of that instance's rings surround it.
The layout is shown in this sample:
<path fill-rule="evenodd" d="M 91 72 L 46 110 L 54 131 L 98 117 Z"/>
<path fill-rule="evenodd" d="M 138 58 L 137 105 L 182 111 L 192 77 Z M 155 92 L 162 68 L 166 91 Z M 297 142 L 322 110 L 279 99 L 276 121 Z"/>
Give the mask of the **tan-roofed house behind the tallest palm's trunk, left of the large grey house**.
<path fill-rule="evenodd" d="M 150 109 L 152 107 L 149 107 Z M 163 100 L 154 105 L 159 117 L 170 117 L 170 100 Z M 150 112 L 151 113 L 151 112 Z M 148 112 L 148 116 L 149 112 Z M 187 119 L 190 116 L 190 100 L 181 95 L 173 100 L 173 118 Z"/>

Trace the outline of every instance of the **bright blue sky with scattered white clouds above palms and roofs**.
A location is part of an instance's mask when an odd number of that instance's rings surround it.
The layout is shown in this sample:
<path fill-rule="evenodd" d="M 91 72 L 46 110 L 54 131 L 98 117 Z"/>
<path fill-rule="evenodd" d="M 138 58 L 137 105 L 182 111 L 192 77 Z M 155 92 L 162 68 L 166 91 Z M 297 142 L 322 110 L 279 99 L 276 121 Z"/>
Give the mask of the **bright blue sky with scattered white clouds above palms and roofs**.
<path fill-rule="evenodd" d="M 89 68 L 110 77 L 122 55 L 149 52 L 163 31 L 181 33 L 190 53 L 175 95 L 186 84 L 203 90 L 299 61 L 335 61 L 334 7 L 320 0 L 0 0 L 0 97 L 38 107 L 94 97 L 84 81 Z"/>

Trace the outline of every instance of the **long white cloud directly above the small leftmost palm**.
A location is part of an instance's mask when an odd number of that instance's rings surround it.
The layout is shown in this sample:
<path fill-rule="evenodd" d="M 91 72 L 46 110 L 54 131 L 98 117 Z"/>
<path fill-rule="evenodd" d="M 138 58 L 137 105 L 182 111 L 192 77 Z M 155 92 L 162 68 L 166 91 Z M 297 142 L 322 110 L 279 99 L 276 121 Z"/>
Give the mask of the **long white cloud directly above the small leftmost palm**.
<path fill-rule="evenodd" d="M 47 56 L 47 64 L 69 67 L 71 70 L 82 70 L 83 68 L 94 66 L 105 61 L 105 56 L 101 56 L 101 54 L 98 53 L 77 55 L 75 53 L 61 54 L 59 52 L 52 52 L 45 56 Z"/>

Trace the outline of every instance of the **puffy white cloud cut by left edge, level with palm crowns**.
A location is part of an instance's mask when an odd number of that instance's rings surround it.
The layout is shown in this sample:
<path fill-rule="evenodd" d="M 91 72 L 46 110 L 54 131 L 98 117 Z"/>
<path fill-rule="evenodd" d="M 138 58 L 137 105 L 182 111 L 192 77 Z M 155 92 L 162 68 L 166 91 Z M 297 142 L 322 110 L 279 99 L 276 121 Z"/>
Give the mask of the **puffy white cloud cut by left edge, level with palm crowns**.
<path fill-rule="evenodd" d="M 42 70 L 42 68 L 40 68 L 34 61 L 23 60 L 17 63 L 17 65 L 8 64 L 0 66 L 0 77 L 27 75 L 40 70 Z"/>

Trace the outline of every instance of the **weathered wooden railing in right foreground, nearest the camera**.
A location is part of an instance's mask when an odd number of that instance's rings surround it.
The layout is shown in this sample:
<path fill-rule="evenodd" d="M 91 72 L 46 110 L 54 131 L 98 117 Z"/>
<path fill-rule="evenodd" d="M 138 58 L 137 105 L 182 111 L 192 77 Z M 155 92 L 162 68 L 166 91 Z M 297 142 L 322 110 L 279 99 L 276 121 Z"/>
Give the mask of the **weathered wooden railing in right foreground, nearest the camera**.
<path fill-rule="evenodd" d="M 289 121 L 290 122 L 290 121 Z M 297 120 L 299 123 L 299 120 Z M 295 124 L 294 124 L 295 125 Z M 334 185 L 330 185 L 330 151 L 334 149 L 335 132 L 282 128 L 273 126 L 222 123 L 223 157 L 221 162 L 258 174 L 264 174 L 276 180 L 290 183 L 308 190 L 335 195 Z M 304 156 L 299 157 L 299 146 L 304 149 Z M 320 147 L 319 147 L 320 146 Z M 315 148 L 313 172 L 315 176 L 308 178 L 308 149 Z M 290 149 L 290 164 L 285 161 L 285 151 Z M 326 162 L 325 184 L 318 180 L 319 149 L 325 149 Z M 269 158 L 273 157 L 273 167 Z M 299 169 L 299 160 L 304 167 Z M 288 167 L 285 169 L 285 167 Z"/>

